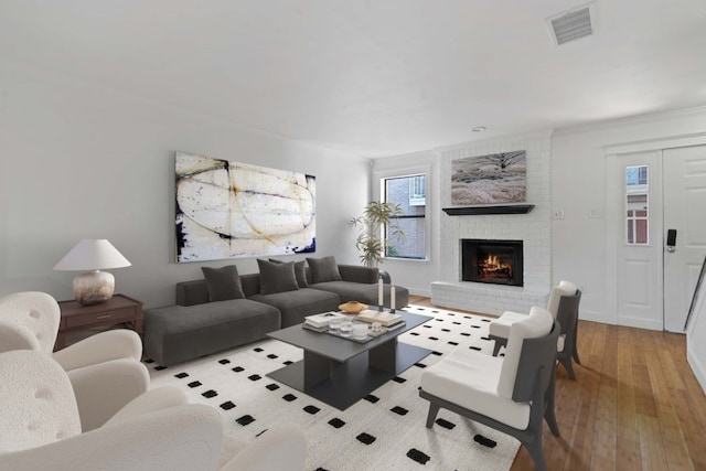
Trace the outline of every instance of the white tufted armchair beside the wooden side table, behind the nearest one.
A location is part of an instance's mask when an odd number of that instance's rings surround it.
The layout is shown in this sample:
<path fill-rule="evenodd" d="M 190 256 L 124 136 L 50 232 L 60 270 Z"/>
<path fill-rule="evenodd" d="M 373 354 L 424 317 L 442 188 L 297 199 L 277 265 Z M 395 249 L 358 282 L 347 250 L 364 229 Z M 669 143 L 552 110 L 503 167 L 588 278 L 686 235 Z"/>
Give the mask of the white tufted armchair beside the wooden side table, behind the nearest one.
<path fill-rule="evenodd" d="M 52 353 L 60 321 L 58 303 L 45 292 L 0 298 L 0 352 L 34 350 L 53 355 L 74 387 L 82 429 L 90 430 L 149 388 L 149 373 L 140 362 L 142 342 L 136 332 L 117 329 Z"/>

